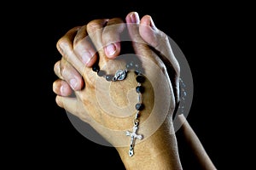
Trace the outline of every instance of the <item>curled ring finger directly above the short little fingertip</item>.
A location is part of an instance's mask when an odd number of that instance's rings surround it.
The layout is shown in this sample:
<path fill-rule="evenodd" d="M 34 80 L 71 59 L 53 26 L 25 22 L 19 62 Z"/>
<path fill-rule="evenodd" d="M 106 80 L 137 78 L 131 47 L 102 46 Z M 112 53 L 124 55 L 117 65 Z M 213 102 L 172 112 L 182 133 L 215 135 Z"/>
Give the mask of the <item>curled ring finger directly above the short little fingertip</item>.
<path fill-rule="evenodd" d="M 84 88 L 84 79 L 79 72 L 70 65 L 64 58 L 55 63 L 55 75 L 65 80 L 73 90 L 81 90 Z"/>

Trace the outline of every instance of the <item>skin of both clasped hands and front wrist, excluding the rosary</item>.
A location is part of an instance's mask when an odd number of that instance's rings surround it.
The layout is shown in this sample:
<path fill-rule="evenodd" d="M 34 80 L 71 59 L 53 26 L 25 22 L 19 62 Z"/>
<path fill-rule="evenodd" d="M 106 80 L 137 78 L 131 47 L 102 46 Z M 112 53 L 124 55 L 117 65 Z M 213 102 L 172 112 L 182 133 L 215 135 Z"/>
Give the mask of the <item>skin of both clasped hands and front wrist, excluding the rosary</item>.
<path fill-rule="evenodd" d="M 113 144 L 126 169 L 182 169 L 172 124 L 172 114 L 179 102 L 180 68 L 172 54 L 168 37 L 154 26 L 150 15 L 144 15 L 140 19 L 136 12 L 131 12 L 125 18 L 134 53 L 144 65 L 146 81 L 143 82 L 143 87 L 147 89 L 143 93 L 143 102 L 147 107 L 141 111 L 139 133 L 148 136 L 136 144 L 134 156 L 128 156 L 129 144 L 125 143 L 127 136 L 114 133 L 116 130 L 131 131 L 134 116 L 128 115 L 131 113 L 127 113 L 125 118 L 115 116 L 119 113 L 112 111 L 112 105 L 104 105 L 102 109 L 98 102 L 99 94 L 96 94 L 96 89 L 108 86 L 109 91 L 102 90 L 100 99 L 109 100 L 108 94 L 111 94 L 113 98 L 110 101 L 115 105 L 129 105 L 127 96 L 120 95 L 117 89 L 129 94 L 129 90 L 137 84 L 136 75 L 132 73 L 127 75 L 125 81 L 112 83 L 106 82 L 91 70 L 97 59 L 100 68 L 104 68 L 109 74 L 125 68 L 125 62 L 117 59 L 121 52 L 120 34 L 126 26 L 122 23 L 123 20 L 119 18 L 92 20 L 87 25 L 74 27 L 60 38 L 57 49 L 62 58 L 54 66 L 55 75 L 59 77 L 53 83 L 56 104 L 90 124 Z M 75 98 L 71 97 L 72 94 L 75 94 Z M 164 102 L 158 105 L 155 98 L 160 94 Z M 134 96 L 135 94 L 131 94 L 131 99 Z M 149 116 L 158 120 L 162 116 L 163 105 L 169 106 L 163 122 L 144 123 Z M 108 111 L 112 111 L 113 115 L 108 114 Z M 148 133 L 150 127 L 158 126 L 157 123 L 160 123 L 159 127 L 153 133 Z"/>

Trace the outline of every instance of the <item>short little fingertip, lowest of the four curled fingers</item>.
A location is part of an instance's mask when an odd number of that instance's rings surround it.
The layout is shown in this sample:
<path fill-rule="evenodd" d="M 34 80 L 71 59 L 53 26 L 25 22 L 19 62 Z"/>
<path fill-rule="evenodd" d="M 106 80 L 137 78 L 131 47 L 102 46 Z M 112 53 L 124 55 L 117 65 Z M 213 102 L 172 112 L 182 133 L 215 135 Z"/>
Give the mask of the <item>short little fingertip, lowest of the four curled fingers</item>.
<path fill-rule="evenodd" d="M 61 79 L 55 80 L 52 87 L 54 93 L 60 96 L 69 96 L 73 93 L 73 90 L 70 88 L 69 84 Z"/>

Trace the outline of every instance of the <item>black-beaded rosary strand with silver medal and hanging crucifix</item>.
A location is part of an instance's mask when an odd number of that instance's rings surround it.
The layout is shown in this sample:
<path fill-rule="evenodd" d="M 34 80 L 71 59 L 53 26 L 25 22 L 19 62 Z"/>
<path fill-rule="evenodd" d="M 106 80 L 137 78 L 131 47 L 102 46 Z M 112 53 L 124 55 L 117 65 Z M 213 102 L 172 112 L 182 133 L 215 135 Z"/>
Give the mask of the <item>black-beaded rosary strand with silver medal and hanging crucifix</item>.
<path fill-rule="evenodd" d="M 124 80 L 128 70 L 131 71 L 133 70 L 135 74 L 137 75 L 136 81 L 137 81 L 137 87 L 136 87 L 136 92 L 137 92 L 137 104 L 135 105 L 135 109 L 137 110 L 135 118 L 133 120 L 133 127 L 132 127 L 132 132 L 126 131 L 125 134 L 126 136 L 131 137 L 130 141 L 130 149 L 129 149 L 129 156 L 134 155 L 134 145 L 135 145 L 135 140 L 136 139 L 143 139 L 142 134 L 137 134 L 137 129 L 139 125 L 139 116 L 140 116 L 140 111 L 143 111 L 144 105 L 143 105 L 143 92 L 144 92 L 144 87 L 142 86 L 142 83 L 145 81 L 145 77 L 142 74 L 142 71 L 139 68 L 138 64 L 134 64 L 133 61 L 131 61 L 129 64 L 126 65 L 126 68 L 124 70 L 118 70 L 115 72 L 114 75 L 106 75 L 105 71 L 101 71 L 99 65 L 93 65 L 92 66 L 92 71 L 95 71 L 99 77 L 105 77 L 105 79 L 108 82 L 116 82 L 116 81 L 121 81 Z"/>

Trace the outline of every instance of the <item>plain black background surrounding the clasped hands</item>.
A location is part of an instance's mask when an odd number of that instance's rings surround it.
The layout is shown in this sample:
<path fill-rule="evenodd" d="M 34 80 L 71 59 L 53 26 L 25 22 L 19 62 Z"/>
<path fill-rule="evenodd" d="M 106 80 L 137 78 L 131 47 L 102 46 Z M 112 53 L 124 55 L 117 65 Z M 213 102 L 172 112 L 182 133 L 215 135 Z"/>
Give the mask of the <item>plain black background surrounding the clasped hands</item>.
<path fill-rule="evenodd" d="M 6 134 L 3 155 L 9 167 L 124 169 L 116 150 L 85 139 L 73 127 L 66 111 L 55 105 L 52 83 L 57 78 L 54 64 L 61 59 L 55 44 L 66 31 L 94 19 L 125 18 L 131 11 L 140 16 L 150 14 L 155 25 L 172 37 L 186 56 L 194 81 L 194 99 L 187 118 L 213 163 L 222 169 L 234 165 L 236 159 L 241 161 L 233 154 L 233 143 L 241 139 L 241 133 L 227 124 L 239 103 L 239 99 L 228 97 L 239 94 L 237 88 L 231 88 L 239 71 L 228 67 L 237 62 L 233 55 L 236 47 L 229 46 L 236 40 L 230 30 L 242 22 L 234 22 L 239 15 L 237 7 L 163 2 L 15 3 L 20 7 L 17 9 L 8 6 L 9 12 L 2 14 L 2 33 L 7 37 L 3 58 L 8 58 L 3 62 L 2 86 L 8 104 L 3 106 L 9 114 L 3 111 L 8 119 L 2 122 Z M 230 140 L 232 136 L 237 138 Z M 185 146 L 180 150 L 184 169 L 191 169 L 193 158 Z"/>

